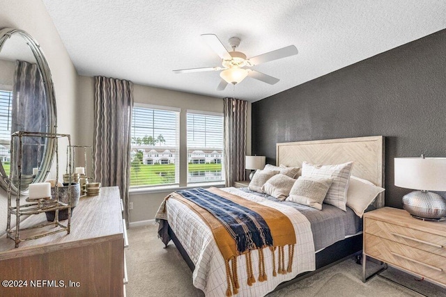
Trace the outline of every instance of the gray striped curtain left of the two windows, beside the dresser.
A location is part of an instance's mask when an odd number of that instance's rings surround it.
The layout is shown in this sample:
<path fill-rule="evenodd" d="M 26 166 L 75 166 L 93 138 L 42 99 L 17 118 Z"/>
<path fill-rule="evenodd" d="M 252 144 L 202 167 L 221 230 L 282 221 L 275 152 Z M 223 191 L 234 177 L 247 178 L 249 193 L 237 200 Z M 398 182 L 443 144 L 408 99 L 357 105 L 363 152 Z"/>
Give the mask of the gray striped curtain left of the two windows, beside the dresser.
<path fill-rule="evenodd" d="M 95 77 L 93 154 L 95 178 L 102 186 L 118 186 L 128 224 L 130 186 L 130 127 L 133 83 Z"/>

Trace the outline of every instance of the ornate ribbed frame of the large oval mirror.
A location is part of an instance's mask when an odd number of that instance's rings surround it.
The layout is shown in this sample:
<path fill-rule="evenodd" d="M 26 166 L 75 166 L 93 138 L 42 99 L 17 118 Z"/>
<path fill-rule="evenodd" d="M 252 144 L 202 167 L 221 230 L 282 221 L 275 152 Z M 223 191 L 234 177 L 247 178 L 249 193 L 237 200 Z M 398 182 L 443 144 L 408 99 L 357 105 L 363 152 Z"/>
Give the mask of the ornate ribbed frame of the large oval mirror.
<path fill-rule="evenodd" d="M 23 41 L 29 46 L 31 49 L 33 56 L 36 58 L 36 64 L 40 74 L 43 77 L 43 88 L 45 90 L 46 102 L 47 102 L 47 133 L 56 133 L 57 128 L 57 117 L 56 117 L 56 97 L 54 95 L 54 86 L 52 81 L 51 72 L 49 71 L 49 65 L 47 60 L 43 54 L 42 49 L 40 49 L 40 45 L 38 42 L 26 31 L 20 29 L 1 29 L 0 30 L 0 53 L 3 49 L 3 45 L 5 45 L 8 40 L 15 35 L 20 35 Z M 15 132 L 15 131 L 11 131 Z M 43 150 L 42 161 L 40 162 L 40 168 L 36 177 L 34 177 L 33 182 L 43 182 L 52 166 L 52 161 L 54 159 L 54 150 L 55 150 L 55 139 L 47 138 L 45 140 L 45 148 Z M 12 160 L 11 160 L 12 161 Z M 0 161 L 0 186 L 8 191 L 8 187 L 10 184 L 10 178 L 6 174 L 5 169 L 3 168 L 3 164 Z M 17 188 L 11 184 L 11 191 L 14 194 L 17 194 Z M 26 193 L 22 191 L 20 194 Z"/>

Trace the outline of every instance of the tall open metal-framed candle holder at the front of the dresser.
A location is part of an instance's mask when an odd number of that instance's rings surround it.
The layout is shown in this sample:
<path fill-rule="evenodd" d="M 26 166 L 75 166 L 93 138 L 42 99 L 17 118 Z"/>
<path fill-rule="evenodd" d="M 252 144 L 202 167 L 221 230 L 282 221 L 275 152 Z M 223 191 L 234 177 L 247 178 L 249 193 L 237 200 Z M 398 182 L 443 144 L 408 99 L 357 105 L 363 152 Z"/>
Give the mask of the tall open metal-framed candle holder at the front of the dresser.
<path fill-rule="evenodd" d="M 49 143 L 54 143 L 47 148 L 47 150 L 54 150 L 56 153 L 56 186 L 54 188 L 55 195 L 54 199 L 51 197 L 40 197 L 47 196 L 45 194 L 38 193 L 36 196 L 31 195 L 31 197 L 26 198 L 26 204 L 20 204 L 20 194 L 15 198 L 15 205 L 12 203 L 12 195 L 15 193 L 15 189 L 17 188 L 16 193 L 22 193 L 22 187 L 24 184 L 22 183 L 22 160 L 23 160 L 23 138 L 33 137 L 33 138 L 54 138 L 56 141 L 52 141 Z M 8 184 L 8 223 L 6 226 L 6 236 L 9 239 L 13 239 L 15 241 L 15 248 L 19 246 L 22 241 L 39 239 L 43 236 L 48 236 L 51 234 L 64 232 L 70 234 L 70 225 L 71 225 L 71 207 L 72 207 L 72 193 L 69 191 L 68 201 L 62 202 L 59 200 L 59 186 L 58 185 L 58 175 L 59 175 L 59 139 L 67 138 L 68 145 L 71 145 L 70 135 L 69 134 L 54 134 L 54 133 L 45 133 L 45 132 L 28 132 L 28 131 L 17 131 L 11 134 L 11 163 L 10 163 L 10 173 L 9 179 L 10 182 Z M 18 147 L 16 148 L 15 145 Z M 18 156 L 15 156 L 18 154 Z M 70 157 L 67 159 L 67 167 L 71 171 L 71 152 Z M 68 185 L 72 184 L 71 178 L 68 179 Z M 31 193 L 32 193 L 31 189 Z M 63 225 L 59 222 L 59 211 L 66 210 L 68 214 L 68 221 L 66 225 Z M 50 223 L 43 223 L 41 225 L 36 225 L 32 227 L 20 228 L 20 221 L 22 216 L 29 216 L 31 214 L 41 214 L 46 211 L 54 211 L 54 220 Z M 11 227 L 11 222 L 13 220 L 13 216 L 15 216 L 15 227 Z M 54 226 L 49 228 L 47 226 Z M 40 229 L 40 230 L 36 230 Z M 31 231 L 36 230 L 36 232 Z M 26 232 L 28 236 L 20 236 L 22 232 Z M 28 233 L 29 232 L 29 233 Z M 22 233 L 23 234 L 23 233 Z"/>

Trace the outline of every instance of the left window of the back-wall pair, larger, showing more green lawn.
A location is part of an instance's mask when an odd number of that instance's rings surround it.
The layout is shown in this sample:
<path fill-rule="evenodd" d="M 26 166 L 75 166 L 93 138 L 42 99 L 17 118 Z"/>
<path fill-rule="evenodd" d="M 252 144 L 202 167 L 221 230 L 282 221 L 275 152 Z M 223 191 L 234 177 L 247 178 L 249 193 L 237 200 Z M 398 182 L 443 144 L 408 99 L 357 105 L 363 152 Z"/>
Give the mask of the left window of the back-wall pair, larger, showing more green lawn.
<path fill-rule="evenodd" d="M 135 104 L 130 186 L 178 184 L 178 118 L 179 110 Z"/>

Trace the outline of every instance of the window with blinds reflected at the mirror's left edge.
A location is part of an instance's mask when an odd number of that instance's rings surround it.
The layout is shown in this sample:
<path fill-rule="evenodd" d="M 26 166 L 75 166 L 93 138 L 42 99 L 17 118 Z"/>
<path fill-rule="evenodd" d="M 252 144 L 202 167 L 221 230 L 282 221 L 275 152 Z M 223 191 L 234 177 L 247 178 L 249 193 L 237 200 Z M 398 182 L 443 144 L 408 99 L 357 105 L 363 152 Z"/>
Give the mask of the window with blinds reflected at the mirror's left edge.
<path fill-rule="evenodd" d="M 0 161 L 9 174 L 11 142 L 11 102 L 13 92 L 0 90 Z"/>

